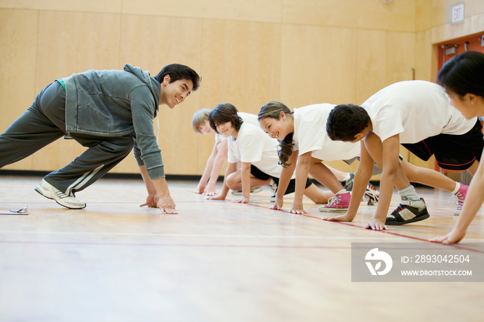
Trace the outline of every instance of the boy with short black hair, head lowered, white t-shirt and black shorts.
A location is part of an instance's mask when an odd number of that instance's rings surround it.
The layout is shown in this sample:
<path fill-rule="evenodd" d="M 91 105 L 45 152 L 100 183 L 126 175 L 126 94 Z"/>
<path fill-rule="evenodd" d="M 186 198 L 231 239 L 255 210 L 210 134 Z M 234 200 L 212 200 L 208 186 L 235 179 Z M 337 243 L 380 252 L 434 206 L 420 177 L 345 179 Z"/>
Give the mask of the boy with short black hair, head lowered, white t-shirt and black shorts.
<path fill-rule="evenodd" d="M 410 182 L 451 191 L 458 198 L 457 213 L 467 193 L 465 184 L 454 182 L 438 171 L 400 160 L 400 144 L 422 160 L 434 154 L 440 167 L 468 169 L 472 174 L 478 167 L 484 146 L 481 122 L 476 117 L 465 120 L 462 113 L 451 106 L 442 87 L 424 81 L 387 86 L 362 106 L 336 106 L 328 117 L 327 130 L 333 140 L 358 142 L 364 139 L 355 175 L 354 198 L 362 196 L 373 162 L 383 170 L 375 219 L 366 225 L 366 228 L 377 230 L 429 217 L 425 201 L 418 197 Z M 394 186 L 402 203 L 387 217 Z M 326 219 L 351 221 L 358 206 L 351 202 L 346 214 Z"/>

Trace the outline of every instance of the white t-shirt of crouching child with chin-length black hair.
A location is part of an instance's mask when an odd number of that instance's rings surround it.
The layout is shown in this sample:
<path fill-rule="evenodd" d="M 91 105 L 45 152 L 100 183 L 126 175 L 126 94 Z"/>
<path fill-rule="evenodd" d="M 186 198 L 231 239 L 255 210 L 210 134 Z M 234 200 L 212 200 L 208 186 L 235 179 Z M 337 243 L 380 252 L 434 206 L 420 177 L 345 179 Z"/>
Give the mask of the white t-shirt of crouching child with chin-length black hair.
<path fill-rule="evenodd" d="M 227 139 L 230 163 L 250 162 L 263 173 L 280 178 L 282 166 L 278 164 L 277 146 L 279 142 L 270 138 L 260 126 L 245 123 L 241 125 L 237 139 L 232 136 Z M 294 176 L 292 176 L 294 178 Z"/>

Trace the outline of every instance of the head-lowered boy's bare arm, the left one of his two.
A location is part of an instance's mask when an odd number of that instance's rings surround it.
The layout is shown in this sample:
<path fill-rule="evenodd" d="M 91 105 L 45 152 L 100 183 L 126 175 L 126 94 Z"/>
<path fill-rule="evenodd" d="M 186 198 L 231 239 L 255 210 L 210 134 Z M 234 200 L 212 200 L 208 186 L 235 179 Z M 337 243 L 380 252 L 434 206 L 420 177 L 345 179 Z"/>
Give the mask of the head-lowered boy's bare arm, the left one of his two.
<path fill-rule="evenodd" d="M 346 214 L 341 216 L 326 217 L 324 220 L 328 221 L 352 221 L 360 207 L 361 200 L 366 190 L 366 186 L 373 175 L 374 161 L 371 155 L 366 151 L 363 140 L 361 141 L 360 164 L 355 173 L 355 183 L 353 184 L 353 191 L 351 192 L 350 205 Z"/>

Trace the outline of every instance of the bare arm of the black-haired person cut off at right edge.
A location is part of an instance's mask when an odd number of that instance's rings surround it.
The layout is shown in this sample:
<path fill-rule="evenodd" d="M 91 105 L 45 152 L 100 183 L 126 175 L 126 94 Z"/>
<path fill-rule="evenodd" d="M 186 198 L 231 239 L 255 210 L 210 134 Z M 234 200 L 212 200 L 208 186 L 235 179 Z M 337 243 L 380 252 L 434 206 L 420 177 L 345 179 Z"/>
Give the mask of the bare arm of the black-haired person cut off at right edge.
<path fill-rule="evenodd" d="M 483 153 L 484 157 L 484 153 Z M 481 158 L 481 160 L 484 160 Z M 467 227 L 469 227 L 470 223 L 476 216 L 477 211 L 481 208 L 481 205 L 484 202 L 484 167 L 482 164 L 479 164 L 477 172 L 472 178 L 471 184 L 469 186 L 469 190 L 467 191 L 467 196 L 465 196 L 464 207 L 460 212 L 459 219 L 457 220 L 454 229 L 449 232 L 449 234 L 445 236 L 438 236 L 436 238 L 432 238 L 430 241 L 436 243 L 458 243 L 462 238 L 465 236 L 465 231 L 467 231 Z"/>

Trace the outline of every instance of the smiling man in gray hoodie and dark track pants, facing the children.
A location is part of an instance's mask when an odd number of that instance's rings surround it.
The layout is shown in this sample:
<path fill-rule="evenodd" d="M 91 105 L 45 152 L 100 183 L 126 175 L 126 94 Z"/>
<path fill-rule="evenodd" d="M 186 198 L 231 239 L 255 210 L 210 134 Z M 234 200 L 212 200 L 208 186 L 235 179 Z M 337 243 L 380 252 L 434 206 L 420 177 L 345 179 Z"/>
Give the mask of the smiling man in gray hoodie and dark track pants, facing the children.
<path fill-rule="evenodd" d="M 75 198 L 133 150 L 148 197 L 144 205 L 177 214 L 171 199 L 153 119 L 158 106 L 174 108 L 196 91 L 198 74 L 188 66 L 167 65 L 156 77 L 124 70 L 88 70 L 56 79 L 32 106 L 0 135 L 0 168 L 68 135 L 88 149 L 73 162 L 48 173 L 35 191 L 59 205 L 82 209 Z"/>

